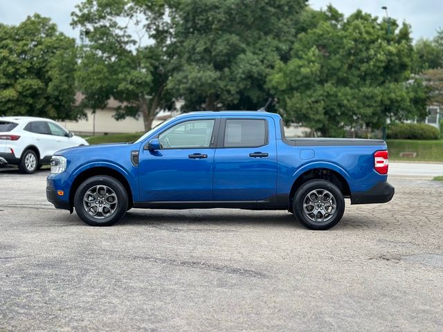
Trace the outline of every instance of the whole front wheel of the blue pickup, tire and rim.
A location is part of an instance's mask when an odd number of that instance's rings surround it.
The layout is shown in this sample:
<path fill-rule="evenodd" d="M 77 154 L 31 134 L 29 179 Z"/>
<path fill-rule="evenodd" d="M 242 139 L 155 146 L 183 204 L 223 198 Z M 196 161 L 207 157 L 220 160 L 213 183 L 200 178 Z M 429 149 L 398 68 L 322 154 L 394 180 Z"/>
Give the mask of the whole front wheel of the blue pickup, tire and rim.
<path fill-rule="evenodd" d="M 114 194 L 116 201 L 112 202 Z M 92 176 L 75 192 L 74 207 L 78 216 L 88 225 L 111 226 L 120 221 L 126 213 L 127 192 L 125 187 L 111 176 Z"/>

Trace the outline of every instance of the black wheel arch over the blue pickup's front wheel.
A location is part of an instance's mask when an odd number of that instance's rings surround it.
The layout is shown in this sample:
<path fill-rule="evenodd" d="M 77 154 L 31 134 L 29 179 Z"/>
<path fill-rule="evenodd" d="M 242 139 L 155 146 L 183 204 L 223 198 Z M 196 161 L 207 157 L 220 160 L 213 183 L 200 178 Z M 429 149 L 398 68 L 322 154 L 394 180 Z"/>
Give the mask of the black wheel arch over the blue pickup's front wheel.
<path fill-rule="evenodd" d="M 84 169 L 84 171 L 80 172 L 77 176 L 75 176 L 75 179 L 71 185 L 71 188 L 69 190 L 69 205 L 71 207 L 74 206 L 74 196 L 75 192 L 77 191 L 78 187 L 85 181 L 87 178 L 91 178 L 92 176 L 111 176 L 112 178 L 115 178 L 118 180 L 123 187 L 125 187 L 125 190 L 127 192 L 127 199 L 128 199 L 128 209 L 132 208 L 132 205 L 134 203 L 134 199 L 132 196 L 132 190 L 131 186 L 129 185 L 129 182 L 125 178 L 123 174 L 118 172 L 116 169 L 113 169 L 111 167 L 106 166 L 96 166 L 91 167 L 88 169 Z"/>

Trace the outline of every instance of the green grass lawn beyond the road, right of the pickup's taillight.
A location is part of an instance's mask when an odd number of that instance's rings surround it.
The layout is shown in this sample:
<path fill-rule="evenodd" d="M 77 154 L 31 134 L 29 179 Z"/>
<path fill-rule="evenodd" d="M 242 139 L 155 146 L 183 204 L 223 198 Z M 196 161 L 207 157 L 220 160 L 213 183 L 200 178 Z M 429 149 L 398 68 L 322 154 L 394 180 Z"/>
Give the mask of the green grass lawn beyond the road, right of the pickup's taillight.
<path fill-rule="evenodd" d="M 387 140 L 390 160 L 442 161 L 443 140 Z M 417 152 L 415 158 L 400 157 L 401 152 Z"/>

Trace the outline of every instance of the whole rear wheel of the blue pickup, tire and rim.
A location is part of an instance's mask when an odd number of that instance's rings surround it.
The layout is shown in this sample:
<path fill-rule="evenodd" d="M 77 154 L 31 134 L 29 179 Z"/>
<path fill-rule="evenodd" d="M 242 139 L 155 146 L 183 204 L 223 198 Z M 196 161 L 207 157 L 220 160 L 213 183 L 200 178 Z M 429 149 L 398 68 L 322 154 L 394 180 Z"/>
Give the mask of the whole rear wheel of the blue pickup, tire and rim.
<path fill-rule="evenodd" d="M 344 212 L 342 192 L 334 183 L 326 180 L 303 183 L 293 198 L 293 214 L 309 230 L 332 228 L 341 221 Z"/>

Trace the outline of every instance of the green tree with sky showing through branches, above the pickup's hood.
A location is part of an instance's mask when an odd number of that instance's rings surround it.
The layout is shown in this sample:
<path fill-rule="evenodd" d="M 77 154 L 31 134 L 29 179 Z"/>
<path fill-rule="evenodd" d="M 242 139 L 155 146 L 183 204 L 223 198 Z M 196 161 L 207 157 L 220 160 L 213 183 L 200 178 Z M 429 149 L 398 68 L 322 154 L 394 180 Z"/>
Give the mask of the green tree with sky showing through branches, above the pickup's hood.
<path fill-rule="evenodd" d="M 171 98 L 170 24 L 163 1 L 85 0 L 72 13 L 80 27 L 78 86 L 84 107 L 99 109 L 113 97 L 122 103 L 116 118 L 143 114 L 145 130 Z"/>

